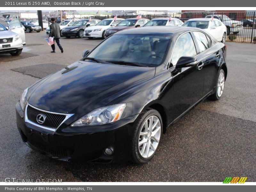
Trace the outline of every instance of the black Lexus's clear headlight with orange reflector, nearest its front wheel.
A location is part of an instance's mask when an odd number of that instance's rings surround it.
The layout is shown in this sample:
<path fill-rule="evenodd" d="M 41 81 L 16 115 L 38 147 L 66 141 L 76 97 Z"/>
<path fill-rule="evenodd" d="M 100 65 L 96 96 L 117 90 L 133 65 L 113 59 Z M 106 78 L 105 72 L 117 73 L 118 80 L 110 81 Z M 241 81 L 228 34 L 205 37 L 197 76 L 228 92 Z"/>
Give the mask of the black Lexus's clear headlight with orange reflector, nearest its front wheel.
<path fill-rule="evenodd" d="M 115 122 L 121 118 L 125 106 L 126 104 L 122 103 L 95 109 L 75 121 L 71 126 L 100 125 Z"/>

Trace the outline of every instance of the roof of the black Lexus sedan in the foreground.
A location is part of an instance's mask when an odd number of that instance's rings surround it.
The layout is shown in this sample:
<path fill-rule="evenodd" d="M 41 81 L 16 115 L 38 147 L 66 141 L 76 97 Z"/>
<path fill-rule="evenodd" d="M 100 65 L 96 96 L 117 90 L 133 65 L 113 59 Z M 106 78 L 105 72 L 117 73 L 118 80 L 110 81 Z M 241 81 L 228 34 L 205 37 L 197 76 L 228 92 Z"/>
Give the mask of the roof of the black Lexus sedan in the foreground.
<path fill-rule="evenodd" d="M 140 27 L 132 28 L 118 32 L 117 34 L 147 34 L 147 35 L 168 35 L 172 36 L 176 33 L 184 33 L 186 31 L 195 30 L 192 27 L 181 26 L 155 26 L 155 27 Z M 196 30 L 202 31 L 200 28 Z"/>

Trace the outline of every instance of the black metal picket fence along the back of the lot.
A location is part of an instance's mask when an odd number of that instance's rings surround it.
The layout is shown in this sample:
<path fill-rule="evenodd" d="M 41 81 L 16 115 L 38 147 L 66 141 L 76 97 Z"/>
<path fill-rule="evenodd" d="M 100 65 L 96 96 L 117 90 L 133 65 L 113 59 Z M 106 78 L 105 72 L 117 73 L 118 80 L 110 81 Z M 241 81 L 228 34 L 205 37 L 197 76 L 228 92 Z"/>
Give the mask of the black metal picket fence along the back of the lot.
<path fill-rule="evenodd" d="M 237 11 L 237 12 L 182 12 L 182 13 L 172 13 L 172 14 L 148 14 L 143 15 L 142 18 L 154 19 L 161 17 L 178 18 L 183 22 L 193 18 L 214 18 L 220 19 L 227 27 L 227 41 L 234 42 L 247 42 L 256 43 L 256 14 L 255 12 Z M 114 16 L 97 16 L 94 15 L 92 18 L 95 19 L 108 19 Z M 128 19 L 135 18 L 136 15 L 118 15 L 118 18 Z M 86 17 L 89 18 L 89 17 Z"/>

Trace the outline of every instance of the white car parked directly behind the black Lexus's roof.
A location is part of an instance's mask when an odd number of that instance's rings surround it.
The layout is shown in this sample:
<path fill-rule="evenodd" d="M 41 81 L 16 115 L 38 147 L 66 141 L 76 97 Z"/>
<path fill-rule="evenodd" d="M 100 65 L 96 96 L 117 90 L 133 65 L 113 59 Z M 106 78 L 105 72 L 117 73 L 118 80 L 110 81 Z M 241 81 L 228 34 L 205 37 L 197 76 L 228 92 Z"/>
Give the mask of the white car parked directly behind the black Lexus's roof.
<path fill-rule="evenodd" d="M 177 18 L 172 18 L 172 20 L 169 20 L 169 18 L 156 18 L 151 19 L 146 23 L 143 27 L 151 27 L 151 26 L 181 26 L 183 22 Z"/>

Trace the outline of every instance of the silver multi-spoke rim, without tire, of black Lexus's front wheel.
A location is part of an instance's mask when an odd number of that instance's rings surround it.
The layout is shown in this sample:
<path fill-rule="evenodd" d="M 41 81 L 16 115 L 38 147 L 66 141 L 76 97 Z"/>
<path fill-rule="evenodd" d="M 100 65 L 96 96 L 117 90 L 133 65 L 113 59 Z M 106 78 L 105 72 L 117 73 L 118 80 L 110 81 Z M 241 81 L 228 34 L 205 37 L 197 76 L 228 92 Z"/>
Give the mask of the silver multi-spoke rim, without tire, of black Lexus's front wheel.
<path fill-rule="evenodd" d="M 140 130 L 138 146 L 140 155 L 149 158 L 154 155 L 161 137 L 161 123 L 157 116 L 150 116 Z"/>

